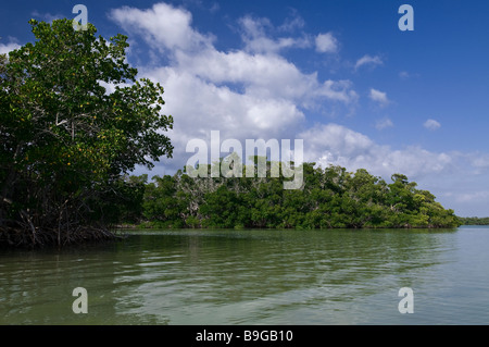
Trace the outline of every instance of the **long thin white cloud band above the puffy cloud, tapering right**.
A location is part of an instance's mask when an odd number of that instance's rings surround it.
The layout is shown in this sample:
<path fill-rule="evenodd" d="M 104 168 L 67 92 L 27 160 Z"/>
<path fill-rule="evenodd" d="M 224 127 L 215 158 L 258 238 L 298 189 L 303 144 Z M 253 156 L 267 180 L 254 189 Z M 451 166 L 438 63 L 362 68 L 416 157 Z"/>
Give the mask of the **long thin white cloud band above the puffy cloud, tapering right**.
<path fill-rule="evenodd" d="M 283 98 L 306 107 L 314 100 L 352 104 L 358 95 L 349 80 L 321 83 L 316 73 L 304 74 L 280 55 L 222 52 L 209 49 L 201 54 L 178 53 L 180 69 L 210 83 L 235 84 L 244 94 L 259 98 Z"/>

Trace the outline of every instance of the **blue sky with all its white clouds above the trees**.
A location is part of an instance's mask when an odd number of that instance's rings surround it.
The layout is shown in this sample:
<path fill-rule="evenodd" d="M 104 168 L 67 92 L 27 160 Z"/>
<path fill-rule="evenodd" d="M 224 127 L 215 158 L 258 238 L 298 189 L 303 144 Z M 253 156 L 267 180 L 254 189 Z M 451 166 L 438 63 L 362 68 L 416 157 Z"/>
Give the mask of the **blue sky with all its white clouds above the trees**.
<path fill-rule="evenodd" d="M 308 161 L 404 173 L 459 215 L 489 215 L 488 1 L 20 0 L 0 12 L 0 52 L 33 40 L 30 17 L 74 18 L 77 3 L 165 87 L 175 153 L 150 174 L 183 168 L 211 131 L 303 138 Z"/>

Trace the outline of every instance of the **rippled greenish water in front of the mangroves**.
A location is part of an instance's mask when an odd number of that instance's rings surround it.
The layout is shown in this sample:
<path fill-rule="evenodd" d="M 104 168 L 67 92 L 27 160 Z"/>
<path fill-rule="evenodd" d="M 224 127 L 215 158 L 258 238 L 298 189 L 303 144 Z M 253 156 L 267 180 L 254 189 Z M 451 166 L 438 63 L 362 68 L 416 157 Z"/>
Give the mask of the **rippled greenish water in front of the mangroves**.
<path fill-rule="evenodd" d="M 489 227 L 463 226 L 135 232 L 3 250 L 0 324 L 488 324 L 488 247 Z M 414 313 L 399 312 L 402 287 Z"/>

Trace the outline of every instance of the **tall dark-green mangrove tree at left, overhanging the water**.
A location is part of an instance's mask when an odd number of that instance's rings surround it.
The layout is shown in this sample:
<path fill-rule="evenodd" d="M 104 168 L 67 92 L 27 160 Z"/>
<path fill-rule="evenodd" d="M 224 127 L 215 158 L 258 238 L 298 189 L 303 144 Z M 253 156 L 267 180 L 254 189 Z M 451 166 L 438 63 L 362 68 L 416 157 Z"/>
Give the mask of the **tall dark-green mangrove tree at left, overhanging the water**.
<path fill-rule="evenodd" d="M 142 191 L 124 174 L 172 156 L 163 87 L 136 78 L 121 34 L 29 24 L 36 40 L 0 55 L 0 241 L 102 237 Z"/>

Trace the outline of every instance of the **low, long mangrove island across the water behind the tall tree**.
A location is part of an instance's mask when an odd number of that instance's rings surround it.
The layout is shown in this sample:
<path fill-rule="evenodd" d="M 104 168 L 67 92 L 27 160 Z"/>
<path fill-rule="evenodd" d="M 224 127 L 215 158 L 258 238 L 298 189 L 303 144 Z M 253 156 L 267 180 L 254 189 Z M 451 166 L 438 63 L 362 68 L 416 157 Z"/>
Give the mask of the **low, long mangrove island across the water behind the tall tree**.
<path fill-rule="evenodd" d="M 271 163 L 268 163 L 268 169 Z M 209 168 L 209 171 L 211 169 Z M 178 171 L 146 186 L 145 225 L 158 227 L 453 227 L 460 220 L 405 175 L 387 184 L 366 170 L 304 163 L 304 185 L 284 177 L 192 178 Z"/>

